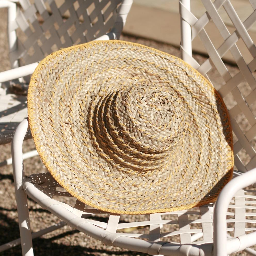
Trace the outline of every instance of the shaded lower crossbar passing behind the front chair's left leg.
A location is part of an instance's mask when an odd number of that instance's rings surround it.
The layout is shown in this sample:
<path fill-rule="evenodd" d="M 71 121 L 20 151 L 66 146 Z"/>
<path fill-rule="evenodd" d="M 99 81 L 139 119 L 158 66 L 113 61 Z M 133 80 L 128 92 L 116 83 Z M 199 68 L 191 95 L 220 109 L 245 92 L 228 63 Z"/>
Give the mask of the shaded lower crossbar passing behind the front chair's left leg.
<path fill-rule="evenodd" d="M 37 232 L 34 232 L 34 233 L 31 234 L 32 235 L 32 239 L 40 237 L 40 236 L 45 235 L 47 233 L 50 233 L 50 232 L 52 232 L 54 230 L 57 230 L 59 228 L 62 228 L 64 226 L 66 226 L 66 225 L 67 224 L 64 221 L 61 221 L 59 223 L 56 223 L 56 224 L 52 225 L 51 227 L 48 227 L 48 228 L 39 230 Z M 8 250 L 8 249 L 11 249 L 11 248 L 19 245 L 20 243 L 21 243 L 20 238 L 18 238 L 18 239 L 15 239 L 15 240 L 13 240 L 13 241 L 11 241 L 9 243 L 3 244 L 3 245 L 0 246 L 0 252 L 3 252 L 3 251 Z"/>

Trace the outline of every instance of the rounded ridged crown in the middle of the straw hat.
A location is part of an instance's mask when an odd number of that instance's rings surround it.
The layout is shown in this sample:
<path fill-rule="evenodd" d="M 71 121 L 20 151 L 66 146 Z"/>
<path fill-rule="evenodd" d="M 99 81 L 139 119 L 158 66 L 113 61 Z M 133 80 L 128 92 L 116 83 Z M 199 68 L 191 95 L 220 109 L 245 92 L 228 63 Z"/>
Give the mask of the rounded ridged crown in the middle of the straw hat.
<path fill-rule="evenodd" d="M 134 83 L 101 95 L 91 111 L 97 143 L 114 165 L 140 171 L 167 167 L 187 130 L 182 104 L 177 93 L 159 84 Z"/>

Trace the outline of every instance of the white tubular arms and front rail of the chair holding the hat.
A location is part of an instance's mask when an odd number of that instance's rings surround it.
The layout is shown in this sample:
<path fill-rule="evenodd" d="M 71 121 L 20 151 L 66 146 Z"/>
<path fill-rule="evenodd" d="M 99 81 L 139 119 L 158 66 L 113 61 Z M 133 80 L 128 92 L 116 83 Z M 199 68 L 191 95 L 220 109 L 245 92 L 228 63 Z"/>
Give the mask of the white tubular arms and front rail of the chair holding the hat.
<path fill-rule="evenodd" d="M 105 225 L 93 222 L 90 219 L 86 219 L 86 217 L 91 216 L 92 213 L 100 213 L 100 211 L 84 209 L 84 204 L 81 202 L 79 203 L 78 200 L 74 207 L 58 202 L 38 189 L 31 180 L 31 177 L 25 177 L 22 142 L 28 129 L 28 121 L 27 119 L 24 119 L 17 127 L 12 140 L 14 186 L 17 200 L 22 253 L 24 256 L 34 255 L 27 207 L 27 195 L 34 199 L 41 207 L 43 207 L 43 209 L 58 216 L 70 227 L 78 229 L 79 231 L 102 241 L 102 243 L 118 246 L 127 250 L 132 249 L 137 252 L 148 253 L 150 255 L 212 255 L 211 252 L 213 249 L 214 256 L 226 256 L 234 252 L 242 251 L 255 244 L 256 232 L 227 240 L 226 214 L 229 203 L 236 193 L 240 189 L 248 187 L 256 182 L 256 168 L 238 175 L 222 189 L 214 207 L 213 243 L 209 241 L 209 243 L 205 244 L 177 244 L 160 242 L 158 239 L 156 239 L 155 242 L 154 239 L 153 241 L 143 241 L 129 235 L 124 235 L 123 233 L 115 233 L 119 215 L 110 214 L 108 223 Z M 162 223 L 163 221 L 161 221 L 161 218 L 159 219 L 159 216 L 159 214 L 150 214 L 151 223 L 149 223 L 149 225 L 152 225 L 152 227 L 155 228 L 154 226 L 158 223 Z M 61 227 L 62 222 L 58 225 Z M 137 224 L 137 226 L 138 225 L 141 225 L 141 223 Z M 123 226 L 125 227 L 125 225 Z M 254 253 L 252 255 L 255 255 L 255 251 L 252 249 L 247 250 L 247 252 Z"/>

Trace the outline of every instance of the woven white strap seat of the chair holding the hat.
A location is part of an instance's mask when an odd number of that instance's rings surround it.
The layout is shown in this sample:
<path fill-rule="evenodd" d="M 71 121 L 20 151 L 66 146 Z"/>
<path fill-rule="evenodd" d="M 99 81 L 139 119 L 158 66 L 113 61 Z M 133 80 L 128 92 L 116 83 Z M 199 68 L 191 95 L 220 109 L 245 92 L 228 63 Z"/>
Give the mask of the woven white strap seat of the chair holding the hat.
<path fill-rule="evenodd" d="M 151 255 L 212 255 L 213 204 L 189 210 L 147 215 L 109 214 L 88 209 L 76 201 L 49 173 L 30 175 L 23 186 L 26 194 L 43 209 L 57 215 L 70 227 L 108 245 L 144 252 Z M 53 197 L 58 197 L 58 200 Z M 64 203 L 60 196 L 68 197 Z M 240 190 L 230 202 L 227 212 L 228 253 L 243 250 L 238 238 L 256 227 L 256 190 Z M 103 220 L 103 221 L 102 221 Z M 252 225 L 251 225 L 252 226 Z M 235 243 L 236 242 L 236 243 Z M 234 246 L 235 245 L 235 246 Z"/>

